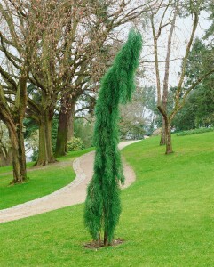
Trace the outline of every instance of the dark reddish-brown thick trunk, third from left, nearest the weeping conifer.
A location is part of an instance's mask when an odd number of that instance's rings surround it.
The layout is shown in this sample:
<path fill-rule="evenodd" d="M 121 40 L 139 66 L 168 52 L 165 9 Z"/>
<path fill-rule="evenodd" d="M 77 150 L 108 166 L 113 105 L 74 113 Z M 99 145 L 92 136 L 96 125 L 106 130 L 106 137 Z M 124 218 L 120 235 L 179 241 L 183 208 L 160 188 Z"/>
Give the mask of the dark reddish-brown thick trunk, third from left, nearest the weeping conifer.
<path fill-rule="evenodd" d="M 62 101 L 59 113 L 59 125 L 56 142 L 55 156 L 60 157 L 66 155 L 67 141 L 74 136 L 74 121 L 75 121 L 75 103 L 76 99 L 67 99 Z M 67 108 L 68 107 L 68 108 Z"/>

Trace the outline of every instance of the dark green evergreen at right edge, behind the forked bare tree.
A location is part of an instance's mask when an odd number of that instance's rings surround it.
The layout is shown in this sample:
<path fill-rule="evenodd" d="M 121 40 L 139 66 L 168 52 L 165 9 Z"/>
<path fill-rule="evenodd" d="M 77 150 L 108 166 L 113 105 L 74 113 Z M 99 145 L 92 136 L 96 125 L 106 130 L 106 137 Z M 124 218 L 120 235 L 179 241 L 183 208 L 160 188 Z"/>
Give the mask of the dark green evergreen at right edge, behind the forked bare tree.
<path fill-rule="evenodd" d="M 196 38 L 187 61 L 185 87 L 193 84 L 209 69 L 213 69 L 213 62 L 213 45 L 210 42 L 205 44 Z M 195 86 L 186 98 L 184 108 L 178 112 L 173 120 L 173 125 L 177 130 L 214 125 L 214 74 L 204 78 L 200 85 Z"/>

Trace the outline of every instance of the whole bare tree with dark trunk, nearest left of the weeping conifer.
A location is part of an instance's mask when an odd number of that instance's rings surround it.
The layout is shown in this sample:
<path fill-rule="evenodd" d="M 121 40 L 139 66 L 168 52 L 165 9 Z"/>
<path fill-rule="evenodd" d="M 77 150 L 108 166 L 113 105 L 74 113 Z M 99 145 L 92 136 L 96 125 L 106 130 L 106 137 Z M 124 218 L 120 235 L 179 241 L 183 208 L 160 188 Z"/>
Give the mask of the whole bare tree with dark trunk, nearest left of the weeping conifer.
<path fill-rule="evenodd" d="M 149 3 L 154 5 L 155 1 Z M 72 46 L 70 49 L 66 45 L 67 54 L 73 59 L 68 61 L 67 68 L 72 69 L 74 76 L 62 93 L 57 156 L 66 153 L 67 140 L 73 135 L 76 101 L 85 93 L 97 91 L 100 77 L 107 69 L 106 62 L 115 55 L 116 49 L 112 48 L 121 43 L 116 29 L 145 14 L 147 4 L 147 1 L 90 1 L 86 7 L 75 6 L 77 14 L 82 15 L 75 20 L 72 42 L 66 43 Z M 73 25 L 72 21 L 68 28 L 73 28 Z"/>

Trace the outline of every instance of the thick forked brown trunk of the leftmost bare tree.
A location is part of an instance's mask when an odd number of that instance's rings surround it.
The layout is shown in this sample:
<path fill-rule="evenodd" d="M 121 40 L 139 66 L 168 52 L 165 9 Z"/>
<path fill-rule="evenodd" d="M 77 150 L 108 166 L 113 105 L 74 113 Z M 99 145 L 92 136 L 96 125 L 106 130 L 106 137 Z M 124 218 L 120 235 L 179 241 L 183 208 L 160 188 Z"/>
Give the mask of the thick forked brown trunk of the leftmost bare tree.
<path fill-rule="evenodd" d="M 12 81 L 12 78 L 10 78 Z M 8 105 L 4 90 L 0 85 L 0 117 L 7 126 L 12 144 L 13 183 L 27 180 L 23 119 L 27 106 L 28 60 L 20 70 L 19 82 L 15 85 L 14 105 Z M 15 81 L 12 82 L 14 86 Z"/>

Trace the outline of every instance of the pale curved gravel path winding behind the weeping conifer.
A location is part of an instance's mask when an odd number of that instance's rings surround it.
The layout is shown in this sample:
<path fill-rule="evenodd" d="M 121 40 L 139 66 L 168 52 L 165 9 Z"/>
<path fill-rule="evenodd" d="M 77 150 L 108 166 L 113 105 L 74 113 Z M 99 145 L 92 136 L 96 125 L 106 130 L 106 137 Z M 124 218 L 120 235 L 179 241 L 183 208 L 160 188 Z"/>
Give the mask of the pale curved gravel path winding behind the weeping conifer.
<path fill-rule="evenodd" d="M 133 142 L 138 141 L 121 142 L 119 148 L 123 149 Z M 93 174 L 94 154 L 94 151 L 92 151 L 75 159 L 73 168 L 76 177 L 67 186 L 42 198 L 36 198 L 26 203 L 0 210 L 0 223 L 15 221 L 36 214 L 43 214 L 61 207 L 83 203 L 86 197 L 87 185 Z M 123 188 L 126 188 L 135 181 L 135 174 L 125 162 L 123 162 L 123 168 L 125 175 Z"/>

